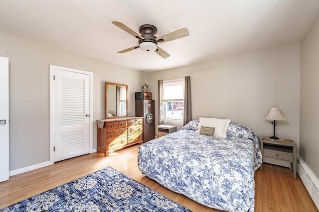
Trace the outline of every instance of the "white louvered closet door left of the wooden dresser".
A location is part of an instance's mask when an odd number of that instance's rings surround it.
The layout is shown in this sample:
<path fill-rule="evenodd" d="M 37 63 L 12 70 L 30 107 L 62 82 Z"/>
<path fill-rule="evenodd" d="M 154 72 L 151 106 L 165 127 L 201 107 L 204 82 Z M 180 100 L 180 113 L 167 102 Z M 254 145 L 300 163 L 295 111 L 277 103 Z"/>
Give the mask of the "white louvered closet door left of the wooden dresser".
<path fill-rule="evenodd" d="M 89 153 L 90 76 L 54 70 L 54 161 Z"/>

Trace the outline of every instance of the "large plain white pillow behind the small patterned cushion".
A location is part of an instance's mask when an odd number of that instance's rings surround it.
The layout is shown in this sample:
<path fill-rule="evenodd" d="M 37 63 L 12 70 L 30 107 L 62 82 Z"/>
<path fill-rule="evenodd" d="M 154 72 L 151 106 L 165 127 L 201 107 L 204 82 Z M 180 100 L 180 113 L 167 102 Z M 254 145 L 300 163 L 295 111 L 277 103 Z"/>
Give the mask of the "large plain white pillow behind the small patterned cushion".
<path fill-rule="evenodd" d="M 216 119 L 216 118 L 199 118 L 198 127 L 196 133 L 200 133 L 201 126 L 215 128 L 214 136 L 226 138 L 227 129 L 230 123 L 230 119 Z"/>

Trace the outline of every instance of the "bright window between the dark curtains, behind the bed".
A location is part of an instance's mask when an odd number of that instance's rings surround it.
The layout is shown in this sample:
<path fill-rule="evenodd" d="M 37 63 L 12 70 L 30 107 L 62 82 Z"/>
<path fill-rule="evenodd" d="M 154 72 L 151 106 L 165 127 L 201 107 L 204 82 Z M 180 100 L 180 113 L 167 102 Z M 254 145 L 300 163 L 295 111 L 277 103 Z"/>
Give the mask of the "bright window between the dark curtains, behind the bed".
<path fill-rule="evenodd" d="M 163 119 L 183 120 L 184 79 L 163 81 Z"/>

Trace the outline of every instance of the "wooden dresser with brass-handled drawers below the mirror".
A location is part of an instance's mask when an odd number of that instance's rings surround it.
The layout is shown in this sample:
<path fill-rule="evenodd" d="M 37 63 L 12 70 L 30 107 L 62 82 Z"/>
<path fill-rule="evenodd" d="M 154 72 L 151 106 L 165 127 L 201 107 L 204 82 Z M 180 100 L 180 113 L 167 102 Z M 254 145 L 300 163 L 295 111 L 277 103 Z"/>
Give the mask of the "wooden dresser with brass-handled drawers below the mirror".
<path fill-rule="evenodd" d="M 103 125 L 102 129 L 101 125 Z M 143 118 L 125 117 L 98 120 L 97 137 L 97 152 L 102 152 L 105 156 L 114 150 L 135 143 L 143 143 Z"/>

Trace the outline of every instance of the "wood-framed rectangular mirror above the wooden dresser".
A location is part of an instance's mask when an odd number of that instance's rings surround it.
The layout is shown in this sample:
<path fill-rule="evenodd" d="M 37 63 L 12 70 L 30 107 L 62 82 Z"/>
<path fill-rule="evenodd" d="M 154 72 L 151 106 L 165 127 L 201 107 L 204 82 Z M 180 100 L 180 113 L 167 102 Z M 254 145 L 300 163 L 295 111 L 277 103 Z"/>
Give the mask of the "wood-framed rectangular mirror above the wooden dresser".
<path fill-rule="evenodd" d="M 128 85 L 105 82 L 105 119 L 128 117 Z"/>

